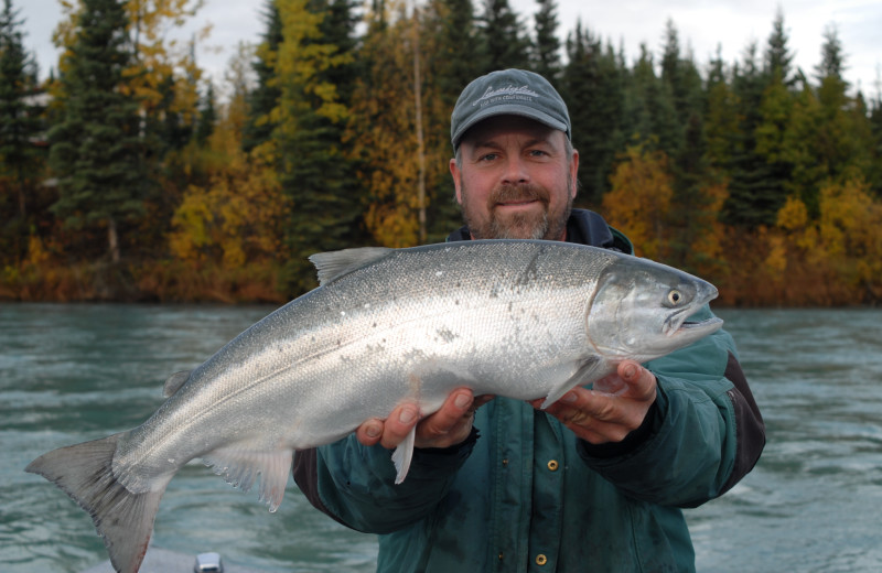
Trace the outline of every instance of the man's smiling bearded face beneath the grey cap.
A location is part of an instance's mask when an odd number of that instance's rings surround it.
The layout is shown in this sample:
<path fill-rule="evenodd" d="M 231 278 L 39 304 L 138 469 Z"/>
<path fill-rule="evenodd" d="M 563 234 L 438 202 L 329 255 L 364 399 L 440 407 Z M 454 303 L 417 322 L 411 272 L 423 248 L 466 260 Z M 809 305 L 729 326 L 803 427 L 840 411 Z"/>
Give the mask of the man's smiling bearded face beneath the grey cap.
<path fill-rule="evenodd" d="M 568 152 L 562 131 L 493 117 L 465 133 L 460 161 L 450 161 L 450 172 L 472 238 L 564 238 L 579 153 Z"/>

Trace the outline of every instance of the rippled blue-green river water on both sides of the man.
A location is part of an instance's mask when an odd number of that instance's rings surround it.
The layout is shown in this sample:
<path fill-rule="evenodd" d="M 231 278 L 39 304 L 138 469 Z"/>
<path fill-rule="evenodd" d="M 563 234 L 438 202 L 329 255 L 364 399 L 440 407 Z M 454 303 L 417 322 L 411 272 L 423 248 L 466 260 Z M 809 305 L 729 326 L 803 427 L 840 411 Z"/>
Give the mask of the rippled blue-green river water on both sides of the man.
<path fill-rule="evenodd" d="M 106 560 L 92 521 L 28 463 L 131 429 L 266 306 L 0 304 L 0 571 Z M 882 571 L 882 311 L 718 314 L 767 424 L 756 468 L 687 516 L 702 572 Z M 275 515 L 201 464 L 170 484 L 153 544 L 267 571 L 366 572 L 374 536 L 312 509 L 289 482 Z"/>

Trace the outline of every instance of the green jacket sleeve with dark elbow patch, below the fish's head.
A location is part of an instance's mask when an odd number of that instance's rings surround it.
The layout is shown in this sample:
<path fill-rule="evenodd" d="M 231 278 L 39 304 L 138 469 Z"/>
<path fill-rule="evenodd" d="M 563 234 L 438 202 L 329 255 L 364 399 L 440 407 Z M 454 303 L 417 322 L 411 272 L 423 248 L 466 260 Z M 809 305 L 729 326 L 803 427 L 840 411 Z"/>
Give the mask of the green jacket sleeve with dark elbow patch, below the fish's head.
<path fill-rule="evenodd" d="M 718 331 L 646 366 L 658 394 L 637 440 L 626 439 L 617 451 L 581 442 L 582 458 L 631 497 L 653 504 L 696 507 L 731 489 L 765 445 L 731 336 Z"/>

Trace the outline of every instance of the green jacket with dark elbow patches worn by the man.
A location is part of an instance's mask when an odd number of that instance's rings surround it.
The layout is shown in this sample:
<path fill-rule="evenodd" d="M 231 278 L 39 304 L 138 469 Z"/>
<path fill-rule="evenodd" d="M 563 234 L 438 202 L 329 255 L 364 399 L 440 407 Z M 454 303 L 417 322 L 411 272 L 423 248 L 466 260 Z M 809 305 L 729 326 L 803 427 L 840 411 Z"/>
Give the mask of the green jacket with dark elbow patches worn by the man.
<path fill-rule="evenodd" d="M 378 571 L 693 571 L 680 508 L 753 467 L 762 419 L 725 332 L 647 367 L 657 400 L 620 444 L 591 445 L 496 398 L 465 443 L 416 451 L 400 485 L 390 452 L 354 436 L 298 452 L 294 477 L 321 510 L 380 534 Z"/>

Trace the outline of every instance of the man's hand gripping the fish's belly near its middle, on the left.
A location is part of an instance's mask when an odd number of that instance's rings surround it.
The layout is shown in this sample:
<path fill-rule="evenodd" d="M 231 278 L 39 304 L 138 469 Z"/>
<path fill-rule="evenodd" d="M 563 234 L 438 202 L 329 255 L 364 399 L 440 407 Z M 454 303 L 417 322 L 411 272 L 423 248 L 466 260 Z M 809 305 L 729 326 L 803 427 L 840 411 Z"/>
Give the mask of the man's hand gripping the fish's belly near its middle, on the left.
<path fill-rule="evenodd" d="M 386 420 L 373 418 L 365 421 L 355 431 L 355 437 L 364 445 L 380 444 L 392 450 L 416 425 L 416 447 L 450 447 L 469 437 L 475 410 L 492 399 L 492 396 L 475 398 L 469 388 L 458 388 L 448 396 L 440 410 L 422 419 L 417 404 L 402 403 Z"/>

